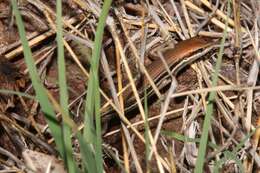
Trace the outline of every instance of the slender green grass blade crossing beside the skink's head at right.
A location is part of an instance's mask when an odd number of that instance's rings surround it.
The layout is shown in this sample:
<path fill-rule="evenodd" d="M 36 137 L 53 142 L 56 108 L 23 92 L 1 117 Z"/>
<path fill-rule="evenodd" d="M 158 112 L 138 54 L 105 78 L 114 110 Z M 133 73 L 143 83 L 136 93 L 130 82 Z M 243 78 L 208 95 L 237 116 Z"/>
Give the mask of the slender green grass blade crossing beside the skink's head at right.
<path fill-rule="evenodd" d="M 228 16 L 230 14 L 230 0 L 228 0 Z M 228 19 L 225 20 L 225 29 L 223 33 L 223 37 L 221 39 L 221 47 L 218 53 L 218 59 L 215 67 L 215 73 L 213 74 L 213 80 L 212 80 L 212 87 L 217 86 L 218 82 L 218 73 L 220 71 L 221 63 L 222 63 L 222 56 L 223 56 L 223 51 L 224 51 L 224 43 L 227 37 L 227 23 Z M 216 96 L 216 91 L 212 91 L 209 94 L 208 98 L 208 105 L 206 108 L 206 115 L 205 119 L 203 122 L 203 131 L 201 134 L 201 140 L 200 140 L 200 145 L 199 145 L 199 155 L 196 161 L 195 165 L 195 173 L 201 173 L 203 172 L 203 165 L 204 165 L 204 160 L 205 160 L 205 154 L 206 154 L 206 148 L 207 148 L 207 142 L 208 142 L 208 133 L 209 133 L 209 128 L 211 124 L 211 116 L 213 114 L 213 105 L 215 101 L 215 96 Z"/>

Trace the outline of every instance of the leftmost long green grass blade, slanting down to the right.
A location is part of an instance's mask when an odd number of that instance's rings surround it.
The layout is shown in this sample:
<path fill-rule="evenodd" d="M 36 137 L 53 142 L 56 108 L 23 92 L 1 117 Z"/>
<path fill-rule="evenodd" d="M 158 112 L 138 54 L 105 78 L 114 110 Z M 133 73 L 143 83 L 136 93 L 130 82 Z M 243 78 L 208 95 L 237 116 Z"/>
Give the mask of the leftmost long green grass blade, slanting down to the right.
<path fill-rule="evenodd" d="M 63 153 L 65 150 L 64 150 L 64 145 L 62 142 L 62 129 L 55 117 L 54 109 L 52 108 L 52 105 L 48 100 L 46 90 L 43 87 L 43 85 L 41 84 L 41 80 L 37 74 L 37 70 L 34 65 L 34 59 L 32 58 L 32 52 L 31 52 L 31 49 L 29 47 L 29 44 L 28 44 L 28 41 L 26 38 L 24 24 L 22 21 L 21 14 L 18 10 L 16 0 L 12 0 L 11 3 L 12 3 L 12 8 L 13 8 L 13 11 L 15 14 L 16 23 L 18 26 L 18 32 L 19 32 L 20 39 L 21 39 L 22 46 L 23 46 L 25 62 L 28 67 L 28 70 L 29 70 L 29 75 L 30 75 L 32 85 L 33 85 L 35 93 L 36 93 L 36 98 L 40 102 L 42 111 L 44 112 L 47 123 L 48 123 L 50 130 L 52 132 L 52 135 L 55 139 L 57 148 L 58 148 L 62 158 L 64 158 Z"/>

